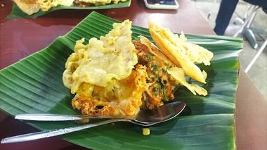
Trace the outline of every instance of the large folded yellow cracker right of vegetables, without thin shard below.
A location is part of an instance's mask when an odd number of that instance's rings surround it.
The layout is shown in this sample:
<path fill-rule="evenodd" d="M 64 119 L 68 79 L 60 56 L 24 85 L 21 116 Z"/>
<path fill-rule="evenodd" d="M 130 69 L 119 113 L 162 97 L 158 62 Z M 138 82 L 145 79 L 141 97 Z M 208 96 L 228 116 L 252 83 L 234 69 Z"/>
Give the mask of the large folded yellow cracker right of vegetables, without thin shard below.
<path fill-rule="evenodd" d="M 210 65 L 210 60 L 213 57 L 211 51 L 187 42 L 184 34 L 181 34 L 179 37 L 172 33 L 170 29 L 163 28 L 152 22 L 149 23 L 149 33 L 159 49 L 161 49 L 175 65 L 180 65 L 181 68 L 184 69 L 186 75 L 196 81 L 206 83 L 206 72 L 201 72 L 200 68 L 194 63 Z"/>

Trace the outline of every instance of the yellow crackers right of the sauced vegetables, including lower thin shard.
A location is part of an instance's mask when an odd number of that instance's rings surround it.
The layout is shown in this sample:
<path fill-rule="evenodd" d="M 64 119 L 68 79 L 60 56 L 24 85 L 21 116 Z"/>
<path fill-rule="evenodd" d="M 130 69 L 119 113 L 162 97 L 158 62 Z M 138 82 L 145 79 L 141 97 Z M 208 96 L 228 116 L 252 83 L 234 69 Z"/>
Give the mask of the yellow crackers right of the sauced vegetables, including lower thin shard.
<path fill-rule="evenodd" d="M 149 33 L 161 51 L 176 65 L 167 70 L 168 74 L 175 78 L 177 83 L 186 86 L 193 94 L 206 96 L 207 90 L 199 85 L 187 83 L 184 76 L 188 75 L 196 81 L 206 83 L 207 73 L 204 70 L 201 72 L 194 63 L 210 65 L 213 53 L 204 47 L 188 42 L 183 33 L 180 36 L 175 35 L 170 29 L 152 22 L 149 23 Z"/>

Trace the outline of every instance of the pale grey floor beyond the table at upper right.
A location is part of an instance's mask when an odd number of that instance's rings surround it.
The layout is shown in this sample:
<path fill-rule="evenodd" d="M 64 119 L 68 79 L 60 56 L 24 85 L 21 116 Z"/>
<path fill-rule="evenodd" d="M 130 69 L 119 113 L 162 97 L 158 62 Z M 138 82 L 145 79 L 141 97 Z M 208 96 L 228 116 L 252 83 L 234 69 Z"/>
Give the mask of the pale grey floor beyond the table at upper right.
<path fill-rule="evenodd" d="M 214 28 L 216 25 L 216 16 L 220 8 L 221 0 L 191 0 L 195 5 L 195 8 L 200 10 L 202 16 L 207 19 L 209 25 Z M 232 1 L 232 0 L 229 0 Z M 267 1 L 266 1 L 267 3 Z M 229 22 L 229 26 L 225 31 L 225 35 L 233 36 L 239 28 L 241 28 L 240 20 L 243 19 L 245 12 L 250 5 L 245 1 L 238 1 L 234 14 Z M 259 51 L 264 41 L 267 39 L 267 13 L 262 8 L 257 10 L 257 13 L 250 26 L 251 31 L 254 33 L 254 37 L 257 40 L 258 47 L 256 49 L 248 42 L 248 39 L 241 33 L 238 37 L 244 39 L 243 51 L 239 54 L 241 67 L 245 69 L 248 67 L 252 58 Z M 248 71 L 248 75 L 252 79 L 253 83 L 260 90 L 261 94 L 264 94 L 267 99 L 267 47 L 264 48 L 259 58 L 255 61 L 254 65 Z"/>

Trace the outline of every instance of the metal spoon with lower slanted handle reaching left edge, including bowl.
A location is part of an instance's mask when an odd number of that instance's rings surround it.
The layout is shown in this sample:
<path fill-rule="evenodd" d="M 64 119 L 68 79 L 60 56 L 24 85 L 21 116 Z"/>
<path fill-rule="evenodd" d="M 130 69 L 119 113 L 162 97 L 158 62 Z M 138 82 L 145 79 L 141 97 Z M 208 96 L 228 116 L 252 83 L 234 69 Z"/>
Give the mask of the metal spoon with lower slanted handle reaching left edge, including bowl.
<path fill-rule="evenodd" d="M 103 122 L 97 122 L 95 124 L 85 124 L 82 126 L 74 126 L 70 128 L 62 128 L 54 131 L 41 131 L 37 133 L 28 133 L 24 135 L 17 135 L 10 138 L 4 138 L 1 140 L 1 144 L 3 143 L 13 143 L 13 142 L 25 142 L 29 140 L 37 140 L 42 138 L 49 138 L 56 135 L 63 135 L 66 133 L 72 133 L 75 131 L 80 131 L 86 128 L 92 128 L 95 126 L 100 126 L 103 124 L 109 124 L 112 122 L 131 122 L 133 124 L 138 124 L 140 126 L 152 126 L 154 124 L 158 124 L 161 122 L 168 121 L 181 113 L 184 110 L 186 103 L 177 101 L 174 103 L 168 103 L 164 106 L 160 106 L 159 108 L 153 110 L 140 110 L 138 115 L 133 117 L 133 119 L 129 118 L 117 118 L 117 119 L 108 119 Z M 84 119 L 84 118 L 83 118 Z M 73 119 L 72 119 L 73 120 Z"/>

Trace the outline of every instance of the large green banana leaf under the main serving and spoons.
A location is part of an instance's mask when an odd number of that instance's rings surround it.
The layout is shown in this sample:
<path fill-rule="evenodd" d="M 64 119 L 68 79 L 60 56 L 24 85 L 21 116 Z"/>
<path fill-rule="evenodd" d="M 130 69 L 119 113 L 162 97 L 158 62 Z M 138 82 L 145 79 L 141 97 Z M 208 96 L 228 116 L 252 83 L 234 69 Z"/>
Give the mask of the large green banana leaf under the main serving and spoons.
<path fill-rule="evenodd" d="M 15 116 L 21 113 L 79 114 L 71 106 L 70 90 L 65 88 L 62 74 L 65 61 L 73 52 L 76 40 L 105 35 L 118 22 L 92 12 L 70 33 L 56 39 L 47 48 L 0 71 L 0 108 Z M 147 28 L 133 26 L 133 38 L 144 35 Z M 207 97 L 195 96 L 179 88 L 175 101 L 185 101 L 184 112 L 168 122 L 150 127 L 151 134 L 142 134 L 142 127 L 118 122 L 60 138 L 90 149 L 235 149 L 234 108 L 238 84 L 238 52 L 240 38 L 213 35 L 187 35 L 188 40 L 213 51 L 210 66 L 200 65 L 208 77 L 202 85 Z M 191 81 L 194 82 L 194 81 Z M 42 131 L 76 122 L 26 122 Z"/>

